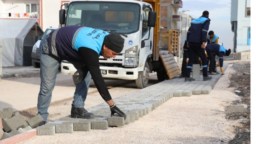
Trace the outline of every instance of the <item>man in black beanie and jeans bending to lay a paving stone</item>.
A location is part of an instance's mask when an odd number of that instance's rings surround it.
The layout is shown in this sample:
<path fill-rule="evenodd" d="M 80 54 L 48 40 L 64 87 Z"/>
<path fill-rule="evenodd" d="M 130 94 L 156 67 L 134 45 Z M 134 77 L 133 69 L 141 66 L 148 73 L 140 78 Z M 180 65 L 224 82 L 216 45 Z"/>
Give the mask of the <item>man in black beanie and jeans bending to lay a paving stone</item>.
<path fill-rule="evenodd" d="M 67 60 L 78 70 L 76 90 L 71 107 L 72 118 L 94 118 L 94 114 L 84 109 L 91 78 L 102 96 L 108 103 L 111 116 L 114 113 L 126 118 L 126 115 L 114 104 L 108 88 L 102 78 L 99 56 L 105 59 L 115 58 L 124 47 L 124 38 L 118 33 L 105 32 L 83 26 L 64 26 L 48 34 L 40 43 L 40 92 L 38 94 L 38 113 L 46 124 L 47 112 L 52 98 L 58 67 L 62 60 Z"/>

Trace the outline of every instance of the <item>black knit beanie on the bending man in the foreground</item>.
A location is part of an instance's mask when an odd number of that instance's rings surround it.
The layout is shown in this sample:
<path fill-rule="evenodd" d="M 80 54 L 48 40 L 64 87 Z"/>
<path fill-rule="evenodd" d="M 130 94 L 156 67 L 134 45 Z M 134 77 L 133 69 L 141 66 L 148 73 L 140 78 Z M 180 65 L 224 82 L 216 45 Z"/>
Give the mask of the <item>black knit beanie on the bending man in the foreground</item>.
<path fill-rule="evenodd" d="M 110 50 L 116 53 L 122 52 L 124 48 L 124 38 L 118 33 L 111 33 L 105 36 L 103 42 Z"/>

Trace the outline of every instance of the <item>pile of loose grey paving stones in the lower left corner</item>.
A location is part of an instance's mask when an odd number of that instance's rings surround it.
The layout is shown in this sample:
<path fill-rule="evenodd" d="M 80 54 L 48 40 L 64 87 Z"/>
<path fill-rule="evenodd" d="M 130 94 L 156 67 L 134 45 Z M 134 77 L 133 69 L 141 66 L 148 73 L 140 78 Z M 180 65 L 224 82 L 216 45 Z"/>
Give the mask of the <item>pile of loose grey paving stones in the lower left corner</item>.
<path fill-rule="evenodd" d="M 34 116 L 26 121 L 22 118 L 19 112 L 15 112 L 13 114 L 12 108 L 4 108 L 3 111 L 0 111 L 0 118 L 2 118 L 4 126 L 4 134 L 0 140 L 32 130 L 32 128 L 36 127 L 43 121 L 40 115 Z"/>

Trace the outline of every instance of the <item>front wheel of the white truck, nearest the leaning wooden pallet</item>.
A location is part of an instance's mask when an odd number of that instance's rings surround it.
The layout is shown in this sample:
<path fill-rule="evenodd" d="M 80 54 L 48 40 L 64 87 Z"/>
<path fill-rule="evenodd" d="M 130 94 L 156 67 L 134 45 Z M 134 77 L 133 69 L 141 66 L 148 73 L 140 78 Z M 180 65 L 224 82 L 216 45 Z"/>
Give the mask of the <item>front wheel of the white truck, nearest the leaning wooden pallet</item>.
<path fill-rule="evenodd" d="M 144 71 L 135 80 L 137 88 L 146 88 L 148 86 L 148 80 L 149 80 L 149 66 L 148 66 L 148 62 L 146 62 Z"/>

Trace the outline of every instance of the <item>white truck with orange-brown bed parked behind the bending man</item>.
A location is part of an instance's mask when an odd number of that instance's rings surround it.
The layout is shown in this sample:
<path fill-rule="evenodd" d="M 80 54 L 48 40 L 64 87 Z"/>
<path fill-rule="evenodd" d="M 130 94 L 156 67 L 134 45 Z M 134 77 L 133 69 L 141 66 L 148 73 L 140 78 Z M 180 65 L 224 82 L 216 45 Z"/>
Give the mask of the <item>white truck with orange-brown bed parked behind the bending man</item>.
<path fill-rule="evenodd" d="M 148 85 L 149 73 L 157 72 L 158 80 L 179 75 L 173 52 L 159 49 L 160 0 L 71 0 L 60 10 L 60 25 L 81 25 L 117 32 L 124 38 L 124 49 L 116 58 L 99 57 L 104 79 L 136 80 L 137 88 Z M 67 61 L 62 74 L 73 75 L 76 68 Z"/>

